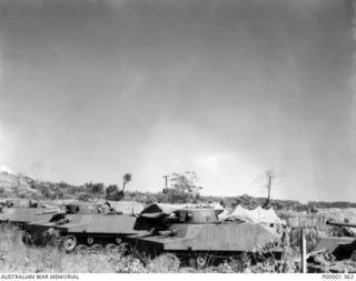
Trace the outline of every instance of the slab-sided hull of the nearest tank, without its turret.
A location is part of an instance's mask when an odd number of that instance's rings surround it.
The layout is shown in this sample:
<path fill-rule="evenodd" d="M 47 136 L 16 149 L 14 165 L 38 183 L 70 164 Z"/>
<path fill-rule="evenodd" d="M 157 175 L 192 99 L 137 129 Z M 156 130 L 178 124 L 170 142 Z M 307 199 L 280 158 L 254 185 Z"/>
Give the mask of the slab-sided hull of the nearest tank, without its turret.
<path fill-rule="evenodd" d="M 175 233 L 175 234 L 172 234 Z M 128 237 L 135 251 L 155 258 L 174 253 L 184 263 L 207 260 L 221 262 L 243 252 L 281 255 L 279 238 L 257 223 L 172 224 L 169 231 L 152 235 Z M 189 263 L 189 264 L 190 264 Z M 190 264 L 191 265 L 191 264 Z"/>

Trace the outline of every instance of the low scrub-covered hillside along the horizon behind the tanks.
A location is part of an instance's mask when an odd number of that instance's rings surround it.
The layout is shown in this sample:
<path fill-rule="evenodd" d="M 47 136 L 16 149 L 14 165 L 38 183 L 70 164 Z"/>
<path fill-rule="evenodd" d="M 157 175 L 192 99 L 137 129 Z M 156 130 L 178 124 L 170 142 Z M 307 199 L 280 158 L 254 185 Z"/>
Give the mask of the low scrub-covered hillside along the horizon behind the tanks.
<path fill-rule="evenodd" d="M 98 188 L 95 192 L 95 188 Z M 39 199 L 77 199 L 83 201 L 103 199 L 109 187 L 102 183 L 86 183 L 82 185 L 72 185 L 67 182 L 50 182 L 33 179 L 24 173 L 10 173 L 0 171 L 0 198 L 32 198 Z M 112 200 L 112 199 L 111 199 Z M 140 192 L 128 190 L 125 193 L 123 200 L 137 201 L 141 203 L 164 202 L 162 193 Z M 266 198 L 255 198 L 247 194 L 236 197 L 204 197 L 199 198 L 200 202 L 224 202 L 231 207 L 241 204 L 245 208 L 254 209 L 257 205 L 263 205 Z M 306 210 L 313 207 L 316 208 L 356 208 L 356 203 L 352 202 L 308 202 L 301 204 L 296 200 L 270 200 L 270 205 L 276 210 Z"/>

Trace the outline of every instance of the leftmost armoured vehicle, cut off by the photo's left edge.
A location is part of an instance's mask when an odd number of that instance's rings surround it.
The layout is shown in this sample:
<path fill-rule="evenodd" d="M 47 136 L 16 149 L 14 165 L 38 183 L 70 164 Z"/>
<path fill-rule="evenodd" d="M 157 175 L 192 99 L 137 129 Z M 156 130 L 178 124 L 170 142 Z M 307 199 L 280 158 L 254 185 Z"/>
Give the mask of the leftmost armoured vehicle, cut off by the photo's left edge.
<path fill-rule="evenodd" d="M 8 199 L 0 205 L 0 222 L 23 227 L 28 222 L 49 220 L 59 208 L 39 207 L 30 199 Z"/>

